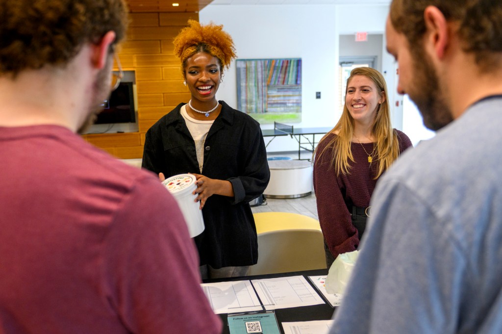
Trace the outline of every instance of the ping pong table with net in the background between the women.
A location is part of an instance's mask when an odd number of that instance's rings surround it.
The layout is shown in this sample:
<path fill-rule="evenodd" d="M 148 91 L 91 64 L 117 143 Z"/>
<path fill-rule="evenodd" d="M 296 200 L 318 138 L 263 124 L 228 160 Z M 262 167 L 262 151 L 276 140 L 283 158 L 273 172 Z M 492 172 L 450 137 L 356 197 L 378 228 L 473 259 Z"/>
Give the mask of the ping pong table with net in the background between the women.
<path fill-rule="evenodd" d="M 274 129 L 262 130 L 262 134 L 264 139 L 265 137 L 272 137 L 265 147 L 268 147 L 276 137 L 290 136 L 290 138 L 294 138 L 298 142 L 298 160 L 310 160 L 300 159 L 302 149 L 314 152 L 319 140 L 331 129 L 333 128 L 295 128 L 292 125 L 274 122 Z M 321 136 L 319 137 L 319 135 Z"/>

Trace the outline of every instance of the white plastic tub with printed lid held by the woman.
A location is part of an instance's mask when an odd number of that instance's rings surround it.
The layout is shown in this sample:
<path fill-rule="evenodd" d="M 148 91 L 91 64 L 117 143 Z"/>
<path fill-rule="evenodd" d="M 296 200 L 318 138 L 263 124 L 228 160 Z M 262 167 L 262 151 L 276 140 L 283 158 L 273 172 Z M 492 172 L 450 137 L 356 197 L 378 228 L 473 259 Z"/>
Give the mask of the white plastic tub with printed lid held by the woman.
<path fill-rule="evenodd" d="M 162 184 L 174 196 L 187 222 L 190 237 L 198 236 L 204 231 L 204 219 L 200 203 L 195 201 L 197 195 L 192 195 L 197 185 L 195 176 L 191 174 L 178 174 L 164 180 Z"/>

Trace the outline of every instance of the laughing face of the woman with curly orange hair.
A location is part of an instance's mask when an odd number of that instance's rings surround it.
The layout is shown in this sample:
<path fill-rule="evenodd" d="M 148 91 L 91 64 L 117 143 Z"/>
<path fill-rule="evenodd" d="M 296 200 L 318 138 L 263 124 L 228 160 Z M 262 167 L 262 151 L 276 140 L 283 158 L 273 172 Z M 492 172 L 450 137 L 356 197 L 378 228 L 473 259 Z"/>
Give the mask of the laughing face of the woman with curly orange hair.
<path fill-rule="evenodd" d="M 198 52 L 187 58 L 185 78 L 192 94 L 192 104 L 214 103 L 221 80 L 221 66 L 218 58 Z"/>

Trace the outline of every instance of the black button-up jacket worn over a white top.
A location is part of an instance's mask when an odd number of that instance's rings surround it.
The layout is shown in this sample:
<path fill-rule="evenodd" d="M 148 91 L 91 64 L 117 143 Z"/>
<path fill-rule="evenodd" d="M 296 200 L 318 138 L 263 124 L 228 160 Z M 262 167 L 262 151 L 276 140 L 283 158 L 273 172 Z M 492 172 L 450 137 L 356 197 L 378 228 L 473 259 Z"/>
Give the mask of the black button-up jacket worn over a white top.
<path fill-rule="evenodd" d="M 180 103 L 146 134 L 143 167 L 167 177 L 203 174 L 232 183 L 234 197 L 210 196 L 202 215 L 205 230 L 195 237 L 200 264 L 218 269 L 258 261 L 258 242 L 249 201 L 263 193 L 270 170 L 260 124 L 223 101 L 204 143 L 199 171 L 195 143 L 180 114 Z"/>

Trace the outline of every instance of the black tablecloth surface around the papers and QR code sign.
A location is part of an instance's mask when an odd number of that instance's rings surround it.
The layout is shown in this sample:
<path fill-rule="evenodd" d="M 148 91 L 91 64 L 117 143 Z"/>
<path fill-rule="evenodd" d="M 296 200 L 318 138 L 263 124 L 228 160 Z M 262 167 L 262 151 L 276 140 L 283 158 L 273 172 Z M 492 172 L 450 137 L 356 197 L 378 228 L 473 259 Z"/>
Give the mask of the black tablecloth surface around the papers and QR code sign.
<path fill-rule="evenodd" d="M 263 278 L 276 278 L 276 277 L 287 277 L 287 276 L 298 276 L 302 275 L 311 284 L 308 276 L 318 276 L 327 275 L 328 269 L 318 269 L 318 270 L 308 270 L 299 271 L 292 273 L 281 273 L 281 274 L 268 274 L 268 275 L 254 275 L 245 277 L 230 277 L 223 279 L 206 279 L 203 280 L 204 283 L 214 283 L 214 282 L 230 282 L 230 281 L 242 281 L 242 280 L 253 280 L 253 279 L 263 279 Z M 312 285 L 312 284 L 311 284 Z M 312 285 L 314 290 L 317 289 Z M 322 297 L 322 296 L 321 296 Z M 335 308 L 331 307 L 328 303 L 320 305 L 311 306 L 301 306 L 292 308 L 278 308 L 275 310 L 277 322 L 279 323 L 279 328 L 281 333 L 284 334 L 281 323 L 291 322 L 291 321 L 310 321 L 310 320 L 329 320 L 333 316 Z M 223 320 L 223 334 L 229 334 L 227 323 L 227 314 L 218 314 Z"/>

